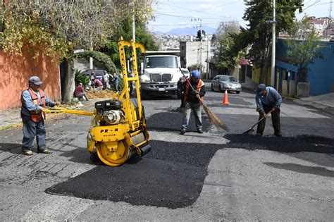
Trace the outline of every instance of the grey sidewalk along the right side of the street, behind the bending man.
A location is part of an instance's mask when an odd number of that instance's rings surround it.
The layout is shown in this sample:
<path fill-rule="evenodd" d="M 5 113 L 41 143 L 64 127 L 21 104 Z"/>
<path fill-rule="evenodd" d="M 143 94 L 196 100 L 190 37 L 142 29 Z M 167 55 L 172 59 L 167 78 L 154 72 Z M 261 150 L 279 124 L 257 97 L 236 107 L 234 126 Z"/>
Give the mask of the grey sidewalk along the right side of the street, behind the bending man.
<path fill-rule="evenodd" d="M 257 84 L 249 78 L 242 83 L 242 87 L 254 91 Z M 319 96 L 305 97 L 301 99 L 293 99 L 293 101 L 302 106 L 309 106 L 314 109 L 325 111 L 334 115 L 334 92 L 322 94 Z"/>

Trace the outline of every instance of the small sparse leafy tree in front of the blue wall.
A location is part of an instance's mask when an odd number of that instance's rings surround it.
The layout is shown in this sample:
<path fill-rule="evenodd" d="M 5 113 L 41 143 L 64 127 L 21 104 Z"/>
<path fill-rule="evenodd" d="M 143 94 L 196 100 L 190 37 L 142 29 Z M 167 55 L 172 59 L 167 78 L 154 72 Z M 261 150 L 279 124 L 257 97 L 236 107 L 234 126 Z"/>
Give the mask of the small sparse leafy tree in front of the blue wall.
<path fill-rule="evenodd" d="M 298 66 L 297 75 L 299 82 L 308 82 L 307 66 L 313 63 L 315 58 L 323 58 L 320 37 L 311 27 L 309 18 L 304 18 L 290 30 L 290 39 L 286 39 L 288 61 Z"/>

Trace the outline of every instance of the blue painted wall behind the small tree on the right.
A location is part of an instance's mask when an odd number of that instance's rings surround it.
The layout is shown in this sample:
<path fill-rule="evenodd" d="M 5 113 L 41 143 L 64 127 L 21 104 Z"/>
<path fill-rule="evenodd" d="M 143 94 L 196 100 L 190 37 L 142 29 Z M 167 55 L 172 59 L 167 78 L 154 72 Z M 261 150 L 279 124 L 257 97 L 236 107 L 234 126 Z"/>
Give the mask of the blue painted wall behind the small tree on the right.
<path fill-rule="evenodd" d="M 320 50 L 323 59 L 314 59 L 309 64 L 310 94 L 326 94 L 334 92 L 334 42 L 322 42 Z M 278 39 L 276 59 L 286 57 L 287 47 L 282 39 Z"/>

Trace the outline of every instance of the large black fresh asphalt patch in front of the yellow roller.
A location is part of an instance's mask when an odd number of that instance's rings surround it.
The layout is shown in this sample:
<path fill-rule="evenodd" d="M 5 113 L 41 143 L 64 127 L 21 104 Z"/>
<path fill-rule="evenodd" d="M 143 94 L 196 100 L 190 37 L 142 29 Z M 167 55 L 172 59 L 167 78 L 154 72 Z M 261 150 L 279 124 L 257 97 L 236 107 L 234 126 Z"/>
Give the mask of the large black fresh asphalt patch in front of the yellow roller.
<path fill-rule="evenodd" d="M 150 144 L 156 149 L 143 158 L 119 167 L 97 166 L 45 192 L 171 209 L 192 205 L 220 146 L 155 140 Z"/>

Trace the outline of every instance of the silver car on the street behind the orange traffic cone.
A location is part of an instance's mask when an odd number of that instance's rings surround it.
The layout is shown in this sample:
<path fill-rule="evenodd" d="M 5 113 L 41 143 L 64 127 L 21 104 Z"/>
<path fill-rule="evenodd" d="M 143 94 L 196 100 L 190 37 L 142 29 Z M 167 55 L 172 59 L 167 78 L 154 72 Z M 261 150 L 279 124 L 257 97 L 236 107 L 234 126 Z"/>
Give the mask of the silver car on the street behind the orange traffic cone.
<path fill-rule="evenodd" d="M 228 92 L 236 92 L 239 94 L 241 92 L 241 84 L 233 76 L 230 75 L 216 75 L 211 82 L 211 91 L 218 90 L 223 92 L 228 90 Z"/>

